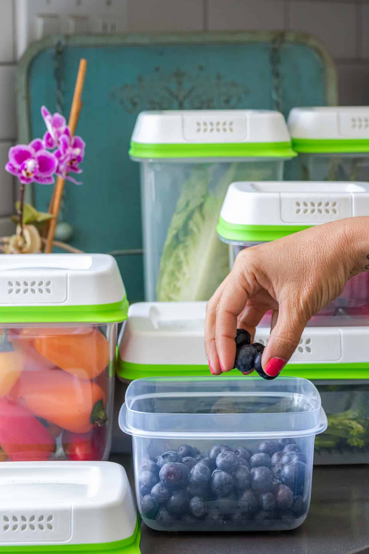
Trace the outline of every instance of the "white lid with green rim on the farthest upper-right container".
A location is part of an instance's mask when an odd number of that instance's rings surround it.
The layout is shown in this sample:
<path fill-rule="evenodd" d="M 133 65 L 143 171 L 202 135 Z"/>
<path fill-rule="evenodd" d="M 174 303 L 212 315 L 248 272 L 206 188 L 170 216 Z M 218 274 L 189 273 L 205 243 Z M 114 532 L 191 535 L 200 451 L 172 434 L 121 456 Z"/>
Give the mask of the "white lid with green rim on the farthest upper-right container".
<path fill-rule="evenodd" d="M 369 153 L 369 106 L 294 107 L 288 127 L 297 152 Z"/>

